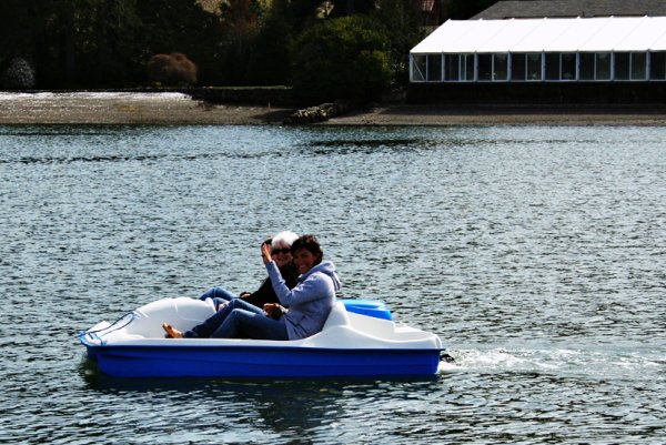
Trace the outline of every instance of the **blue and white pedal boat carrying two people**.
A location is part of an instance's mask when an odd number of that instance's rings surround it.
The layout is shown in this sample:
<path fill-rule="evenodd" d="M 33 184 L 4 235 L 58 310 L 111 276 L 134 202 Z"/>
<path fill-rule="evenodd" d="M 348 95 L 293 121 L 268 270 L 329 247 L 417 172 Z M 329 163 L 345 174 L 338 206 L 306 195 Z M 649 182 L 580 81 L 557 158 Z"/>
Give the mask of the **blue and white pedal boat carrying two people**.
<path fill-rule="evenodd" d="M 437 335 L 395 323 L 375 300 L 339 300 L 320 333 L 294 341 L 167 338 L 161 326 L 186 331 L 213 313 L 211 300 L 165 299 L 79 340 L 118 377 L 426 376 L 444 351 Z"/>

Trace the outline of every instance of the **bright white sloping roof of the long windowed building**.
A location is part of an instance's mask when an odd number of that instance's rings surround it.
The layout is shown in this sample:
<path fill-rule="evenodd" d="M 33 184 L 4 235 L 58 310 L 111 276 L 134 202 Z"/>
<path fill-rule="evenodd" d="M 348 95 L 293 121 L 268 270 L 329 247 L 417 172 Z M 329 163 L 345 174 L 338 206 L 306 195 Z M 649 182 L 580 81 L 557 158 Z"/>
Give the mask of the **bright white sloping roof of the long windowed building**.
<path fill-rule="evenodd" d="M 448 20 L 411 53 L 666 51 L 666 17 Z"/>

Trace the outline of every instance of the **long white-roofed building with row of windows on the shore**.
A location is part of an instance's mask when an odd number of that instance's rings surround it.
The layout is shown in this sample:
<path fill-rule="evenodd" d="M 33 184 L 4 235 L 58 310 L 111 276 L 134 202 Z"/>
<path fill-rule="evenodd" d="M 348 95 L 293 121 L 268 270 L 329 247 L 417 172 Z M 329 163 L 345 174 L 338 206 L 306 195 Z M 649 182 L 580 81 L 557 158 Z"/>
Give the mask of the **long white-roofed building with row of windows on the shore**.
<path fill-rule="evenodd" d="M 413 83 L 664 82 L 666 17 L 448 20 L 410 60 Z"/>

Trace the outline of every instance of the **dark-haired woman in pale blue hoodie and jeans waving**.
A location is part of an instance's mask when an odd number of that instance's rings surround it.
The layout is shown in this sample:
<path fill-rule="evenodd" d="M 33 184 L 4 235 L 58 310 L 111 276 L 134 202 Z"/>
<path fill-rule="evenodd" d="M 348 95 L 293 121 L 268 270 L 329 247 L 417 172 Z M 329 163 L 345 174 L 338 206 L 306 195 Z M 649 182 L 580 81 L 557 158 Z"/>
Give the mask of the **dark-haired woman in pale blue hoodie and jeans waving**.
<path fill-rule="evenodd" d="M 340 290 L 341 283 L 333 263 L 322 261 L 323 252 L 316 237 L 303 235 L 292 244 L 291 254 L 296 271 L 301 274 L 293 290 L 286 286 L 280 275 L 271 249 L 263 244 L 261 253 L 280 304 L 269 303 L 262 311 L 240 299 L 233 299 L 191 331 L 181 333 L 164 324 L 167 333 L 174 338 L 233 338 L 243 333 L 243 336 L 258 340 L 299 340 L 320 332 L 333 307 L 335 292 Z"/>

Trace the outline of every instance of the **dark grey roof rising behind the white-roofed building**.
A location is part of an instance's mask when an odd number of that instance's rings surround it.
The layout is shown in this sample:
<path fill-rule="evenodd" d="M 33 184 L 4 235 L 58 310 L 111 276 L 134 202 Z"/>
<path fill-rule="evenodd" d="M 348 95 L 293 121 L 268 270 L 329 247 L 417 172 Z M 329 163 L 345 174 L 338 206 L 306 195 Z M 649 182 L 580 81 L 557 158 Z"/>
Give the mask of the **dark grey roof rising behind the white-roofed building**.
<path fill-rule="evenodd" d="M 472 19 L 534 19 L 544 17 L 666 16 L 666 0 L 532 0 L 498 1 Z"/>

